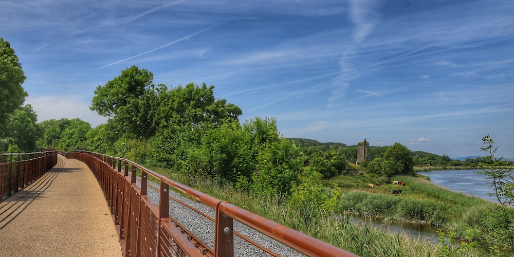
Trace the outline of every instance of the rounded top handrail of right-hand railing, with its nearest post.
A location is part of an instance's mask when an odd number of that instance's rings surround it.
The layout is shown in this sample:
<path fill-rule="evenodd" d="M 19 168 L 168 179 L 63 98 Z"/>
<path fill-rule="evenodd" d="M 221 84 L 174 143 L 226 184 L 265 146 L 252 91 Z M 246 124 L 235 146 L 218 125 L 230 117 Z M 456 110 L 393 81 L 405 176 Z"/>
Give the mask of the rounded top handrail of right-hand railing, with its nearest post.
<path fill-rule="evenodd" d="M 175 190 L 186 194 L 195 200 L 199 201 L 202 204 L 205 204 L 216 211 L 216 219 L 215 219 L 215 249 L 214 256 L 216 255 L 226 255 L 233 256 L 233 240 L 230 237 L 233 237 L 232 231 L 232 222 L 236 220 L 241 222 L 252 229 L 255 229 L 282 244 L 295 249 L 305 255 L 308 256 L 357 256 L 353 253 L 347 252 L 343 249 L 335 247 L 331 244 L 325 243 L 317 238 L 305 235 L 299 231 L 288 228 L 279 223 L 273 222 L 265 217 L 262 217 L 258 214 L 249 212 L 240 207 L 234 206 L 227 201 L 223 201 L 209 194 L 203 193 L 196 189 L 193 189 L 189 186 L 183 185 L 180 182 L 177 182 L 167 176 L 159 174 L 155 171 L 152 171 L 138 163 L 135 163 L 131 160 L 127 160 L 124 158 L 113 157 L 106 154 L 94 153 L 89 151 L 74 151 L 71 152 L 71 155 L 74 153 L 82 153 L 87 154 L 89 156 L 93 156 L 94 158 L 99 159 L 100 161 L 107 164 L 113 171 L 121 172 L 121 162 L 125 163 L 125 169 L 128 167 L 128 164 L 132 166 L 132 177 L 131 180 L 135 183 L 135 171 L 139 169 L 141 171 L 141 196 L 146 194 L 146 175 L 150 174 L 151 176 L 157 178 L 161 182 L 161 201 L 163 201 L 163 195 L 168 197 L 168 189 L 164 189 L 167 187 L 172 187 Z M 110 162 L 110 163 L 109 163 Z M 116 167 L 116 163 L 118 163 L 118 167 Z M 124 170 L 125 176 L 128 175 L 128 171 Z M 107 186 L 108 187 L 108 186 Z M 107 197 L 107 196 L 106 196 Z M 166 198 L 167 199 L 167 198 Z M 145 200 L 149 200 L 146 199 Z M 151 205 L 158 206 L 158 213 L 161 218 L 169 216 L 168 205 L 165 204 L 166 210 L 160 208 L 162 203 L 155 204 L 151 203 Z M 224 231 L 223 231 L 224 230 Z M 158 243 L 157 243 L 158 244 Z M 227 246 L 227 244 L 232 244 L 231 246 Z M 222 250 L 221 246 L 225 248 Z M 232 251 L 229 253 L 229 251 Z M 205 253 L 204 253 L 205 254 Z"/>

